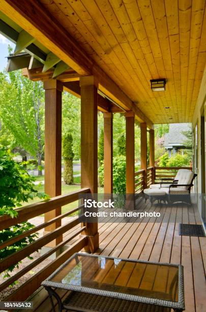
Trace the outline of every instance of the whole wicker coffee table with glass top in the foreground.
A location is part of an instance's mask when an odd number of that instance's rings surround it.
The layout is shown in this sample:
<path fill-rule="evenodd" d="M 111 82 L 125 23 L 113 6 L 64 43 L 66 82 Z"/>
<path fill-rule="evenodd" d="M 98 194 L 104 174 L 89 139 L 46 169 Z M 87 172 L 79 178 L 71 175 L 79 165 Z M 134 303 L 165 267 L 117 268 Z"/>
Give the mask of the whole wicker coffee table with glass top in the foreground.
<path fill-rule="evenodd" d="M 75 253 L 42 282 L 58 311 L 183 311 L 183 266 Z M 62 302 L 57 289 L 68 290 Z"/>

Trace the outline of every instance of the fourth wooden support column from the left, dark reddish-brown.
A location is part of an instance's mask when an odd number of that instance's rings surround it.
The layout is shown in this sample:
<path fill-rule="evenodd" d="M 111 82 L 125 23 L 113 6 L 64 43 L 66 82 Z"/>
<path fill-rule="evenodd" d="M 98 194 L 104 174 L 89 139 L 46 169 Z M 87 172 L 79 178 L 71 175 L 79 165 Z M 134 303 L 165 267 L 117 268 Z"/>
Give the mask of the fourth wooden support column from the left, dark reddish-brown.
<path fill-rule="evenodd" d="M 126 193 L 134 194 L 134 112 L 126 117 Z"/>

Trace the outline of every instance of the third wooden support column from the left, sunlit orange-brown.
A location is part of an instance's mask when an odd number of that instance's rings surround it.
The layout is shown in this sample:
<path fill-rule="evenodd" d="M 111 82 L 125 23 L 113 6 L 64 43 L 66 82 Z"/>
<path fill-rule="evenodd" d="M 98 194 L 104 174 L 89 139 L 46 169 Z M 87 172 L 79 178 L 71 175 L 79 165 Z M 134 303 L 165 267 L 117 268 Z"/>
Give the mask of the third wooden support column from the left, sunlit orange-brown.
<path fill-rule="evenodd" d="M 104 193 L 113 192 L 113 114 L 104 113 Z"/>

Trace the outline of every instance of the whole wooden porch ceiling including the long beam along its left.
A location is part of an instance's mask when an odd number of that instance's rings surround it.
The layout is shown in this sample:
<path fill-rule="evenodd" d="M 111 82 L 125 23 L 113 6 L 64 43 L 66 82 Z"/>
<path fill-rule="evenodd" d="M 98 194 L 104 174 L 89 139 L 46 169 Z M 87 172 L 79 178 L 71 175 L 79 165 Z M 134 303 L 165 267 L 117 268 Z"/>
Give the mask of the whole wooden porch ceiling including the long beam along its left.
<path fill-rule="evenodd" d="M 96 74 L 101 90 L 140 122 L 192 120 L 206 61 L 205 0 L 0 3 L 76 72 Z M 150 80 L 159 78 L 166 91 L 152 92 Z"/>

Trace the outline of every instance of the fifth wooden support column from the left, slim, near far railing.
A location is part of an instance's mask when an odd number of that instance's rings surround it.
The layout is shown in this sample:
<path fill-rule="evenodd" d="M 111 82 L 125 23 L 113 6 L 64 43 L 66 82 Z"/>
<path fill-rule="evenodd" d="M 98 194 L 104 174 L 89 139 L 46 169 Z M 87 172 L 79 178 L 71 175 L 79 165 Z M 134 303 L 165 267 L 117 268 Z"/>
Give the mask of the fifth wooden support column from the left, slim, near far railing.
<path fill-rule="evenodd" d="M 146 159 L 147 159 L 147 132 L 146 132 L 146 123 L 140 123 L 140 131 L 141 131 L 141 169 L 145 170 L 144 173 L 144 185 L 143 188 L 146 189 L 147 181 L 146 181 Z"/>

